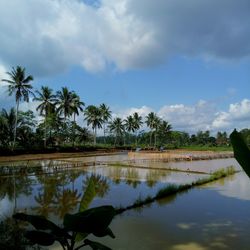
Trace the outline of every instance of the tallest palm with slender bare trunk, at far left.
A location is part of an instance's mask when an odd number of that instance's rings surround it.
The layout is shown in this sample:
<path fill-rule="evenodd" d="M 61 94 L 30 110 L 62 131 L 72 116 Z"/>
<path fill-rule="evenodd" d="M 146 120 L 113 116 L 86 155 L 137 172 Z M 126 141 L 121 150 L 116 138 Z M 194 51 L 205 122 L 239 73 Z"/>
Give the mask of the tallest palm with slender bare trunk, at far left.
<path fill-rule="evenodd" d="M 2 79 L 2 81 L 7 82 L 9 95 L 15 95 L 16 99 L 16 118 L 15 118 L 15 128 L 14 128 L 14 138 L 13 138 L 13 148 L 16 143 L 16 127 L 17 127 L 17 115 L 19 109 L 19 103 L 23 99 L 25 102 L 29 102 L 29 95 L 33 94 L 31 89 L 32 85 L 29 84 L 33 81 L 33 76 L 25 76 L 25 68 L 17 66 L 12 67 L 11 72 L 7 72 L 10 79 Z"/>

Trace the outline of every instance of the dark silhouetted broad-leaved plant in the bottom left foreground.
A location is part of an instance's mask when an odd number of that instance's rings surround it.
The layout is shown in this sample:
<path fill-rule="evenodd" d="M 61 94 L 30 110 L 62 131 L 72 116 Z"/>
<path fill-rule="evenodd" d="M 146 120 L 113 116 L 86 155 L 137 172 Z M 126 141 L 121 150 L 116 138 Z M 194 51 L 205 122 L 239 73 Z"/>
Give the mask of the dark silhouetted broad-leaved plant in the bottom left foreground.
<path fill-rule="evenodd" d="M 112 206 L 100 206 L 76 214 L 66 214 L 63 228 L 47 220 L 44 216 L 16 213 L 13 218 L 29 222 L 36 229 L 27 230 L 25 233 L 25 237 L 31 244 L 51 246 L 58 241 L 64 250 L 78 250 L 84 246 L 89 246 L 93 250 L 109 250 L 109 247 L 86 239 L 86 237 L 93 234 L 96 237 L 109 235 L 115 238 L 109 228 L 115 214 Z M 75 247 L 76 242 L 79 243 Z"/>

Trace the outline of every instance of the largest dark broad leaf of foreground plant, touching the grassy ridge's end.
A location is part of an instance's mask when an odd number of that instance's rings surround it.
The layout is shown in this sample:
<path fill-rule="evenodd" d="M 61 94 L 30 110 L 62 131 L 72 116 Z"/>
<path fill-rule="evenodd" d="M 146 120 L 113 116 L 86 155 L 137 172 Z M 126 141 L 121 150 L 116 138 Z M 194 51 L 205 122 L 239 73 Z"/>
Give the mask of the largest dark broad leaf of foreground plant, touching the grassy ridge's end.
<path fill-rule="evenodd" d="M 66 214 L 63 224 L 68 231 L 98 233 L 107 229 L 114 216 L 115 209 L 112 206 L 101 206 L 76 214 Z"/>

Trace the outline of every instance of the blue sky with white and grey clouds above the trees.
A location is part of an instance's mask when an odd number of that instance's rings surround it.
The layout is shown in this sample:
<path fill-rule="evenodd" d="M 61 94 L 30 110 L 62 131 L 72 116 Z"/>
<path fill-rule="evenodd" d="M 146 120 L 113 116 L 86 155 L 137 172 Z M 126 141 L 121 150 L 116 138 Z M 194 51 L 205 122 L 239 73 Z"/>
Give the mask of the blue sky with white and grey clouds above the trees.
<path fill-rule="evenodd" d="M 67 86 L 113 117 L 250 128 L 250 1 L 1 0 L 0 79 L 17 65 L 35 89 Z M 15 105 L 6 90 L 0 82 L 0 109 Z"/>

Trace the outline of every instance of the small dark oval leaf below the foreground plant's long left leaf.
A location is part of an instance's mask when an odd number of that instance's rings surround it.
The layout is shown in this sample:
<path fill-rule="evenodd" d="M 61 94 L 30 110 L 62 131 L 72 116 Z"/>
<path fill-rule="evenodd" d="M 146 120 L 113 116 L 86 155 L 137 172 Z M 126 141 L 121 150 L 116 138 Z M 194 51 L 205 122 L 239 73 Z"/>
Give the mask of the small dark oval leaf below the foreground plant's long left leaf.
<path fill-rule="evenodd" d="M 51 246 L 55 242 L 55 236 L 41 231 L 27 231 L 25 237 L 33 244 Z"/>

